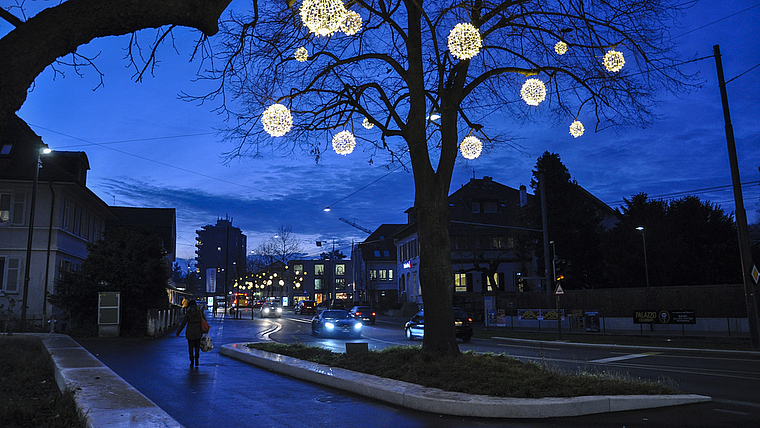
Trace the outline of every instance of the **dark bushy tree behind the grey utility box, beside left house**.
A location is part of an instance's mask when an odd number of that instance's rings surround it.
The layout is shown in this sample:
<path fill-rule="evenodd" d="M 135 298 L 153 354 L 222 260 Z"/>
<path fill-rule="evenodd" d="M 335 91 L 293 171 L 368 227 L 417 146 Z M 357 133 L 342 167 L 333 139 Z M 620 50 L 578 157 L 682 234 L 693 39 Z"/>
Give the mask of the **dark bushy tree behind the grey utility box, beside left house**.
<path fill-rule="evenodd" d="M 121 292 L 121 332 L 147 333 L 148 309 L 167 309 L 166 287 L 171 270 L 161 239 L 133 228 L 106 231 L 88 246 L 87 258 L 76 272 L 62 273 L 50 302 L 84 328 L 97 326 L 98 293 Z"/>

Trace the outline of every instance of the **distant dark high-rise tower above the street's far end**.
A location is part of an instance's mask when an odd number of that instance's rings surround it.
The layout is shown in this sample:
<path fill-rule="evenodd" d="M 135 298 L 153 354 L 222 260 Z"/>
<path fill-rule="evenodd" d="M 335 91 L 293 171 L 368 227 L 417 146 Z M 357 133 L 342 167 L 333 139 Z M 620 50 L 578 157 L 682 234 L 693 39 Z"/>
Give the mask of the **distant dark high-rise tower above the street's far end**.
<path fill-rule="evenodd" d="M 247 238 L 232 219 L 217 219 L 216 225 L 196 230 L 195 250 L 199 289 L 196 296 L 228 296 L 235 281 L 245 275 Z"/>

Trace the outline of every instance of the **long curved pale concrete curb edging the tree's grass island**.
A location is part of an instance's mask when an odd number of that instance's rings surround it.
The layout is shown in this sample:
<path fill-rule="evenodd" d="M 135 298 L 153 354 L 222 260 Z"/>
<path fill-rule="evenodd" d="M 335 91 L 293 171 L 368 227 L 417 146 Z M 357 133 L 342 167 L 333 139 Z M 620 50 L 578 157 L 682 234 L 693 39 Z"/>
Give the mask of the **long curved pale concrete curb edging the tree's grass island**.
<path fill-rule="evenodd" d="M 667 407 L 710 401 L 702 395 L 587 396 L 573 398 L 501 398 L 463 394 L 385 379 L 280 354 L 251 349 L 245 343 L 222 345 L 222 355 L 321 385 L 424 412 L 483 418 L 553 418 Z"/>

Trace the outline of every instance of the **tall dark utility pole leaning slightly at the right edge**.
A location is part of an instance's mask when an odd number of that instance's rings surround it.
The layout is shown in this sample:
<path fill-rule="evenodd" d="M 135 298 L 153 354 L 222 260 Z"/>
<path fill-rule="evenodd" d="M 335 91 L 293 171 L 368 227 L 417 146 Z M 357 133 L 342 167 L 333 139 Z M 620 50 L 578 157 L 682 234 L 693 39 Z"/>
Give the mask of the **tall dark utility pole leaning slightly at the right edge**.
<path fill-rule="evenodd" d="M 728 94 L 726 93 L 726 81 L 723 77 L 723 62 L 720 58 L 720 46 L 714 45 L 715 66 L 718 69 L 718 85 L 720 86 L 720 98 L 723 102 L 723 119 L 725 120 L 726 142 L 728 143 L 728 161 L 731 166 L 731 181 L 734 188 L 734 204 L 736 205 L 736 230 L 739 235 L 739 254 L 742 262 L 742 277 L 744 279 L 744 297 L 747 301 L 747 324 L 752 350 L 760 350 L 760 335 L 758 335 L 757 300 L 755 297 L 755 285 L 752 284 L 752 251 L 749 245 L 749 228 L 747 227 L 747 213 L 744 211 L 744 198 L 742 197 L 741 178 L 739 177 L 739 161 L 736 156 L 736 142 L 734 141 L 734 127 L 731 125 L 731 114 L 728 111 Z"/>

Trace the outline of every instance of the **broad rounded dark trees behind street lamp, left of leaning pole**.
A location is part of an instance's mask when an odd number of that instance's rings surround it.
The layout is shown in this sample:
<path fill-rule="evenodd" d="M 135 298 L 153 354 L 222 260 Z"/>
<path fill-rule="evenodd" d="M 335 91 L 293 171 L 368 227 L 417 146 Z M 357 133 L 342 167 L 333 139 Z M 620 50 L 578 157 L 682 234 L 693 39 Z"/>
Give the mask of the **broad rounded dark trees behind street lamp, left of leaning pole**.
<path fill-rule="evenodd" d="M 741 283 L 736 227 L 719 206 L 696 196 L 649 200 L 645 193 L 624 201 L 603 245 L 610 286 L 646 285 L 645 244 L 653 287 Z"/>

